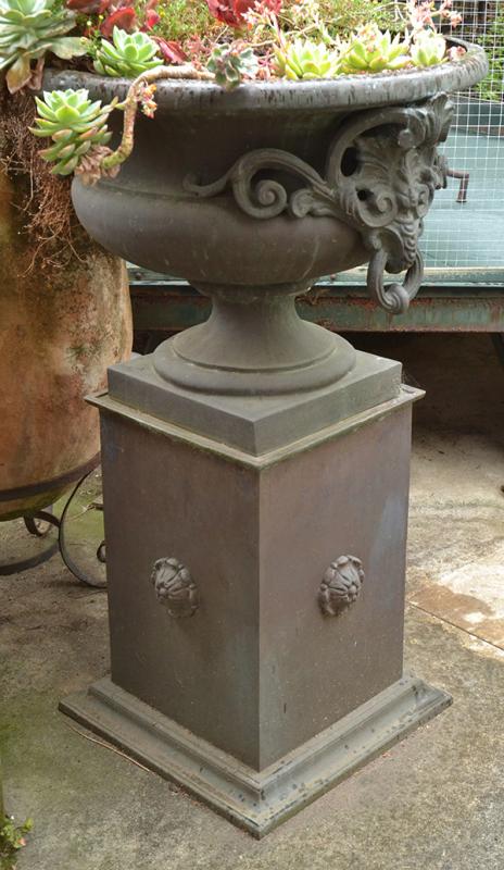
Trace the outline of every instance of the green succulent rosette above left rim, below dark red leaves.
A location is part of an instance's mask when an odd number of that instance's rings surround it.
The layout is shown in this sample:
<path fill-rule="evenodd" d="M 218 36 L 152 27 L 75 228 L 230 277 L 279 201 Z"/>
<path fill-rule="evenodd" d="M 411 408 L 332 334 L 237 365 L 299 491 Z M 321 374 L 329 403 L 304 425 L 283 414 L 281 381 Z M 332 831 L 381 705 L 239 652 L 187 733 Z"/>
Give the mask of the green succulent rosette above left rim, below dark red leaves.
<path fill-rule="evenodd" d="M 102 39 L 97 51 L 94 70 L 101 75 L 136 78 L 163 63 L 158 54 L 158 44 L 140 30 L 128 34 L 114 27 L 112 40 Z"/>

